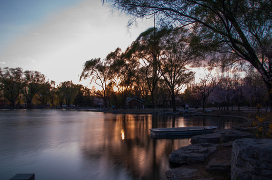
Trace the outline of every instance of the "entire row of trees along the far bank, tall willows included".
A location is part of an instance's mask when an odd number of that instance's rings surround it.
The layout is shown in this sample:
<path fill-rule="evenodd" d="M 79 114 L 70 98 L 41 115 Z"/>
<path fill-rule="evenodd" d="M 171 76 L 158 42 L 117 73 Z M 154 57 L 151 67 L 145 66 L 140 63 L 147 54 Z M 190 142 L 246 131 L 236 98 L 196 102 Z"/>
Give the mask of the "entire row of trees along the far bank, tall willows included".
<path fill-rule="evenodd" d="M 116 48 L 104 59 L 87 60 L 80 79 L 90 78 L 99 90 L 72 81 L 57 85 L 38 71 L 0 69 L 2 106 L 10 103 L 12 107 L 36 104 L 126 108 L 127 97 L 137 96 L 145 100 L 146 107 L 171 107 L 173 111 L 185 104 L 202 106 L 203 110 L 205 106 L 229 110 L 234 105 L 271 110 L 263 77 L 249 63 L 240 63 L 246 69 L 245 77 L 239 77 L 239 73 L 208 73 L 195 83 L 193 67 L 206 65 L 211 71 L 212 63 L 218 65 L 218 60 L 222 60 L 222 55 L 203 50 L 195 38 L 196 34 L 185 28 L 149 28 L 124 51 Z"/>

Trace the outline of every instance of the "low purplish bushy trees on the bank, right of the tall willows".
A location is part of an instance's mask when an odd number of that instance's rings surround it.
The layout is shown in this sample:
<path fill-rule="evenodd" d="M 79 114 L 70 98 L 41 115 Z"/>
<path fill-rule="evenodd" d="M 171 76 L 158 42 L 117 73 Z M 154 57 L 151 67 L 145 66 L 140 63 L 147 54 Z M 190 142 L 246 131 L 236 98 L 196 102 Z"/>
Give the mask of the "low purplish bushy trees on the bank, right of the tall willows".
<path fill-rule="evenodd" d="M 259 110 L 270 108 L 267 88 L 258 73 L 240 78 L 238 75 L 210 76 L 206 74 L 198 83 L 190 84 L 182 94 L 182 99 L 190 104 L 204 107 L 218 107 L 221 110 L 237 106 L 255 107 Z"/>

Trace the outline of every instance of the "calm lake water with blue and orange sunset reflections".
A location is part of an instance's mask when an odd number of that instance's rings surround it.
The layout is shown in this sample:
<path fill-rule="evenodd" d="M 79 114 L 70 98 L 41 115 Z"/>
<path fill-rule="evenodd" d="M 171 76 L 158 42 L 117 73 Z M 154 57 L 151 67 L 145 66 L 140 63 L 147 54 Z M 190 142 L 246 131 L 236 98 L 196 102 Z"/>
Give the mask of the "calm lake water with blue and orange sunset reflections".
<path fill-rule="evenodd" d="M 190 138 L 152 139 L 150 128 L 238 124 L 237 119 L 0 110 L 0 179 L 166 179 L 168 155 Z"/>

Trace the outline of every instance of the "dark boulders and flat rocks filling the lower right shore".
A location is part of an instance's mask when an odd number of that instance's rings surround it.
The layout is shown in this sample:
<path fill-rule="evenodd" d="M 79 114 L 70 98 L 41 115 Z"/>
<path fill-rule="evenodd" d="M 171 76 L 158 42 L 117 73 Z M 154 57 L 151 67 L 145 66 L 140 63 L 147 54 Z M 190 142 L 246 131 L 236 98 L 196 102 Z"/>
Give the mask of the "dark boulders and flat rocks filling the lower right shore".
<path fill-rule="evenodd" d="M 165 176 L 168 180 L 271 179 L 272 161 L 263 159 L 271 159 L 272 140 L 257 139 L 252 130 L 250 127 L 235 127 L 193 136 L 192 144 L 169 155 L 169 162 L 175 168 L 166 171 Z M 242 142 L 244 145 L 239 146 Z M 248 154 L 250 150 L 244 146 L 251 149 L 251 142 L 255 149 L 261 149 Z M 258 151 L 266 153 L 256 155 Z"/>

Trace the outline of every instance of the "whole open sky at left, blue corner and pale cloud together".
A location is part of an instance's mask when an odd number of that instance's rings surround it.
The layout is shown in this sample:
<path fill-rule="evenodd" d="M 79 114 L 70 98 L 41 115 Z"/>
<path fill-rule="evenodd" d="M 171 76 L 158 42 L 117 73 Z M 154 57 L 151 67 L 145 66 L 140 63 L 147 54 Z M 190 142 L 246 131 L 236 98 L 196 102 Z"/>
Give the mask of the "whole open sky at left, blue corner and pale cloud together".
<path fill-rule="evenodd" d="M 112 12 L 101 0 L 0 0 L 0 67 L 37 70 L 47 79 L 79 81 L 83 64 L 122 50 L 153 26 Z"/>

